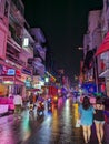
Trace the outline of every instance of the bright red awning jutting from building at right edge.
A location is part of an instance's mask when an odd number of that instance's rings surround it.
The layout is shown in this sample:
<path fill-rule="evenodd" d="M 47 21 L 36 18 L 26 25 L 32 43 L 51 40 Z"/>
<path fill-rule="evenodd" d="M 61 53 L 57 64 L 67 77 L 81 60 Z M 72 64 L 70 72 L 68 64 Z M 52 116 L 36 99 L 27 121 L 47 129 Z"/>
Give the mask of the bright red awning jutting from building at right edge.
<path fill-rule="evenodd" d="M 97 49 L 96 56 L 107 51 L 109 51 L 109 32 L 107 33 L 102 44 Z"/>

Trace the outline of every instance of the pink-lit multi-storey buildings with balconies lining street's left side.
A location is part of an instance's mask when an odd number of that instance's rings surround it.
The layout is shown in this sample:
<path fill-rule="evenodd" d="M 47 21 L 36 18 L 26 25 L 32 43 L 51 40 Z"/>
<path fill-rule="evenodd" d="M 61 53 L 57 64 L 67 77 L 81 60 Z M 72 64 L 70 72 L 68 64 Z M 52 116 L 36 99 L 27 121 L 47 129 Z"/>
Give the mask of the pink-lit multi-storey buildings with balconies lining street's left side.
<path fill-rule="evenodd" d="M 0 1 L 0 86 L 6 92 L 1 95 L 18 91 L 26 95 L 26 89 L 36 81 L 33 75 L 42 76 L 44 41 L 40 28 L 30 29 L 26 21 L 21 0 Z"/>

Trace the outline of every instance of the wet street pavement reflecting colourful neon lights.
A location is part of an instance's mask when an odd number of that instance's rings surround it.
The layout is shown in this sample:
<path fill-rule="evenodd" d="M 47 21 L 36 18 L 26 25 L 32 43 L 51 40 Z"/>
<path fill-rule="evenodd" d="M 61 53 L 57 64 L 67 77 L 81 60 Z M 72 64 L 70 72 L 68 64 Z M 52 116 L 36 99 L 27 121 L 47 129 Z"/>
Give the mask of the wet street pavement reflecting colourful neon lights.
<path fill-rule="evenodd" d="M 71 99 L 60 99 L 58 107 L 37 116 L 22 112 L 21 119 L 13 115 L 0 117 L 0 144 L 83 144 L 82 130 L 76 127 L 78 105 Z M 98 144 L 95 125 L 90 144 Z M 105 144 L 109 144 L 109 126 L 105 126 Z"/>

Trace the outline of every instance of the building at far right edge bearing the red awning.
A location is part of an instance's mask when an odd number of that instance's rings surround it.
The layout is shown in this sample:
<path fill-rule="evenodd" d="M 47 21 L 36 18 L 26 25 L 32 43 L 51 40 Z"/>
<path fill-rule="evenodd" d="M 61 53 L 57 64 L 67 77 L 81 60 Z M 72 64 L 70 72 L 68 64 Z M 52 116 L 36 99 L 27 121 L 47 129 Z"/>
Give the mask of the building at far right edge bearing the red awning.
<path fill-rule="evenodd" d="M 97 49 L 96 56 L 99 60 L 98 76 L 105 79 L 105 90 L 109 96 L 109 0 L 103 0 L 101 20 L 102 41 Z"/>

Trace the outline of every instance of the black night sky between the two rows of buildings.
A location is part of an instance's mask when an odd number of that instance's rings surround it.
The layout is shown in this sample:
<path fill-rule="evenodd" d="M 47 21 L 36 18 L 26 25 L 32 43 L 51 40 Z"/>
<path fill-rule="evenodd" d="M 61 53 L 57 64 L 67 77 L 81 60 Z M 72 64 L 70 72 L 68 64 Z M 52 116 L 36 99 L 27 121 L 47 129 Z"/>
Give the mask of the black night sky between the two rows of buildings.
<path fill-rule="evenodd" d="M 79 74 L 88 11 L 102 8 L 102 0 L 23 0 L 30 27 L 44 32 L 58 69 L 73 78 Z"/>

